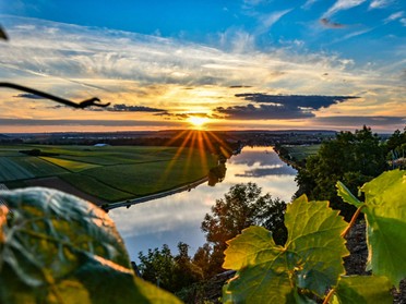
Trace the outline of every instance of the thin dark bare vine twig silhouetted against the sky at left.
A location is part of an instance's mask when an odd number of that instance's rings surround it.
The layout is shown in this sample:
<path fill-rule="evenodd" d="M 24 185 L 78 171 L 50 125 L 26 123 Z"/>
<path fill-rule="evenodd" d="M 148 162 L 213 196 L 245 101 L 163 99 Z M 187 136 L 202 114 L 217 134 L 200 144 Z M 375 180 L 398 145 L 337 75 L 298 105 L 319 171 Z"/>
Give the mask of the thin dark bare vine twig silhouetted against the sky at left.
<path fill-rule="evenodd" d="M 16 90 L 23 90 L 23 92 L 26 92 L 26 93 L 31 93 L 31 94 L 34 94 L 34 95 L 37 95 L 37 96 L 57 101 L 59 104 L 62 104 L 62 105 L 65 105 L 65 106 L 69 106 L 69 107 L 73 107 L 73 108 L 76 108 L 76 109 L 84 109 L 84 108 L 91 107 L 91 106 L 104 108 L 104 107 L 107 107 L 107 106 L 110 105 L 110 102 L 99 104 L 100 99 L 97 98 L 97 97 L 85 99 L 85 100 L 76 104 L 76 102 L 73 102 L 69 99 L 64 99 L 64 98 L 61 98 L 61 97 L 58 97 L 58 96 L 55 96 L 55 95 L 35 89 L 35 88 L 31 88 L 31 87 L 26 87 L 26 86 L 22 86 L 22 85 L 17 85 L 17 84 L 12 84 L 12 83 L 0 83 L 0 87 L 8 87 L 8 88 L 16 89 Z"/>

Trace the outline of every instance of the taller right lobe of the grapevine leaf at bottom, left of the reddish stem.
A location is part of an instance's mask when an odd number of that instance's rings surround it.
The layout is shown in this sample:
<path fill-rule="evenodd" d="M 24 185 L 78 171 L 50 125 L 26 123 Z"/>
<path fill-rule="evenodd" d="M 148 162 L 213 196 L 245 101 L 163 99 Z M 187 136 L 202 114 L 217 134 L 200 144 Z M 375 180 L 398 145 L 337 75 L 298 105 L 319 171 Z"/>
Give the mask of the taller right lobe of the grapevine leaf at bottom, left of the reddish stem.
<path fill-rule="evenodd" d="M 329 202 L 308 202 L 301 196 L 287 206 L 285 224 L 289 231 L 287 246 L 300 257 L 298 287 L 324 294 L 345 273 L 342 258 L 348 251 L 341 233 L 347 223 Z"/>

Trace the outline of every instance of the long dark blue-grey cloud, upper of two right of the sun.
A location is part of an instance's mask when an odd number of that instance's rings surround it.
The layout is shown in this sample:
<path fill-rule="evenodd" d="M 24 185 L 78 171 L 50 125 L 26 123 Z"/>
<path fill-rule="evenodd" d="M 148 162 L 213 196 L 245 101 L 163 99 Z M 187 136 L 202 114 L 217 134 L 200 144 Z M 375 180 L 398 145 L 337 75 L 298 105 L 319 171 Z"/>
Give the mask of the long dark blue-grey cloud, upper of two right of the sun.
<path fill-rule="evenodd" d="M 310 110 L 319 110 L 320 108 L 327 108 L 335 104 L 359 98 L 356 96 L 268 95 L 262 93 L 236 94 L 236 97 L 255 102 L 271 102 L 289 108 L 297 107 Z"/>

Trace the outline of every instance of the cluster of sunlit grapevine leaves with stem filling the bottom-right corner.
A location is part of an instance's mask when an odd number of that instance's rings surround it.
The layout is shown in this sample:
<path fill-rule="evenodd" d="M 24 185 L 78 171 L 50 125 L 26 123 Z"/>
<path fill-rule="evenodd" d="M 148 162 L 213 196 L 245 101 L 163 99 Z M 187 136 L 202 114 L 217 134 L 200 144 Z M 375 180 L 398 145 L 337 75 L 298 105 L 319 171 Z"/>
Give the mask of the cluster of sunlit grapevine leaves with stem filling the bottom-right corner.
<path fill-rule="evenodd" d="M 391 285 L 406 277 L 406 171 L 390 171 L 366 183 L 362 203 L 343 183 L 338 195 L 356 206 L 350 224 L 327 207 L 301 196 L 288 205 L 288 240 L 276 245 L 270 231 L 250 227 L 228 241 L 224 267 L 237 270 L 224 289 L 226 303 L 392 303 Z M 345 234 L 359 211 L 367 220 L 372 276 L 346 277 Z M 329 294 L 326 292 L 330 290 Z"/>

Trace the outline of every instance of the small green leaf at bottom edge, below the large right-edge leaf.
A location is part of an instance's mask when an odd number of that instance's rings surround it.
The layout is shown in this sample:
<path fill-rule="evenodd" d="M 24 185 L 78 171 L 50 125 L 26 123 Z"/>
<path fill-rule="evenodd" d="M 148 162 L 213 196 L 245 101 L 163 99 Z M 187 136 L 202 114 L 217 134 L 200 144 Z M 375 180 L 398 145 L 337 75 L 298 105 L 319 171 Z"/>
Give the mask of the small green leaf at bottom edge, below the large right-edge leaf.
<path fill-rule="evenodd" d="M 392 284 L 386 277 L 342 277 L 335 291 L 336 304 L 392 304 Z"/>

